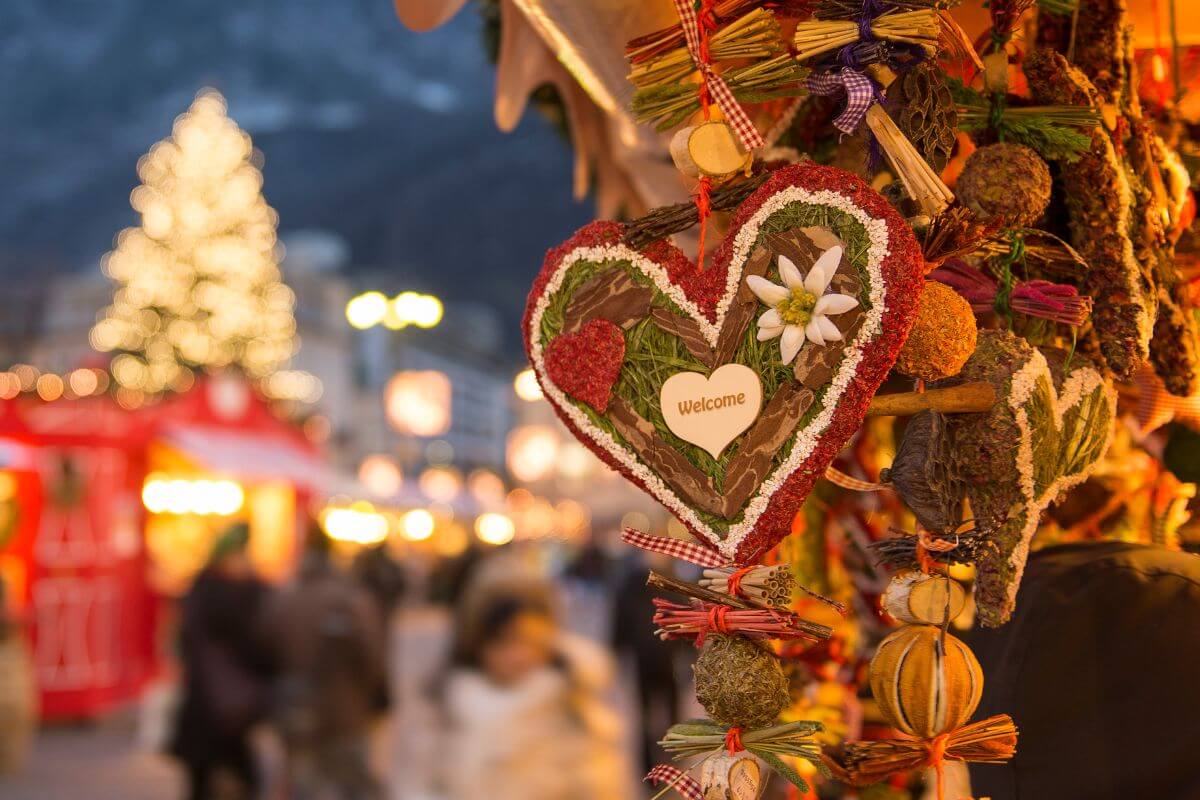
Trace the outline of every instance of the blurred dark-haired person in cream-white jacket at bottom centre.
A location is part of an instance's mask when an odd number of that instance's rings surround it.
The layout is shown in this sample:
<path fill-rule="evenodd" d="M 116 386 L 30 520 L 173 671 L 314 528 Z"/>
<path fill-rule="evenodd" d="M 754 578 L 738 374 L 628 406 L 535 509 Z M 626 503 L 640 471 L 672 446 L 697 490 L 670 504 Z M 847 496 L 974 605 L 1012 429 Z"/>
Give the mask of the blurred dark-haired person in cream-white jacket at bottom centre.
<path fill-rule="evenodd" d="M 445 684 L 449 800 L 624 800 L 611 657 L 528 596 L 481 603 Z"/>

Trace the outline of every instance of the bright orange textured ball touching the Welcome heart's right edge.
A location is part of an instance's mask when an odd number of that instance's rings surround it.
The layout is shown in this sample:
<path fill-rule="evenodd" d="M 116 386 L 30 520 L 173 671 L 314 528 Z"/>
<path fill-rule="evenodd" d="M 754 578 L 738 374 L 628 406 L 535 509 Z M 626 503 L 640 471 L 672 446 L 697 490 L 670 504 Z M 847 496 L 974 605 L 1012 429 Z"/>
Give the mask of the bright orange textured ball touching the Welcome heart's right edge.
<path fill-rule="evenodd" d="M 895 368 L 922 380 L 950 378 L 974 353 L 976 338 L 971 303 L 944 283 L 926 281 Z"/>

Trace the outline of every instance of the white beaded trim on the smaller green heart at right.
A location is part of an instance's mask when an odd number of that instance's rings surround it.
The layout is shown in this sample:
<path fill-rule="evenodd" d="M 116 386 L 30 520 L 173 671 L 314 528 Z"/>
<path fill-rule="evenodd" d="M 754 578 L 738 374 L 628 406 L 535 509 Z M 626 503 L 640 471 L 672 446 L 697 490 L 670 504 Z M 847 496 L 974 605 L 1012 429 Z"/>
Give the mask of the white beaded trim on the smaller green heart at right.
<path fill-rule="evenodd" d="M 1033 356 L 1025 366 L 1013 374 L 1008 407 L 1013 409 L 1016 427 L 1021 433 L 1016 449 L 1016 475 L 1021 489 L 1021 500 L 1025 504 L 1025 524 L 1021 528 L 1021 537 L 1008 558 L 1008 565 L 1014 572 L 1012 581 L 1008 583 L 1009 604 L 1016 602 L 1016 589 L 1020 587 L 1021 575 L 1025 572 L 1025 563 L 1030 558 L 1030 545 L 1033 542 L 1033 534 L 1037 533 L 1038 523 L 1042 521 L 1043 509 L 1062 492 L 1086 481 L 1099 463 L 1099 459 L 1097 459 L 1086 469 L 1074 475 L 1060 475 L 1046 487 L 1046 491 L 1040 497 L 1037 495 L 1037 489 L 1033 486 L 1033 432 L 1030 428 L 1030 416 L 1025 405 L 1033 397 L 1038 383 L 1043 380 L 1050 392 L 1050 405 L 1054 413 L 1054 423 L 1057 428 L 1062 428 L 1062 419 L 1066 413 L 1079 405 L 1085 397 L 1090 397 L 1097 389 L 1102 389 L 1110 407 L 1116 408 L 1116 392 L 1104 383 L 1100 373 L 1091 367 L 1080 367 L 1067 375 L 1062 385 L 1062 393 L 1058 393 L 1054 387 L 1054 379 L 1050 375 L 1050 367 L 1046 365 L 1045 356 L 1037 349 L 1033 350 Z M 1111 441 L 1112 426 L 1110 425 L 1102 452 L 1109 449 Z"/>

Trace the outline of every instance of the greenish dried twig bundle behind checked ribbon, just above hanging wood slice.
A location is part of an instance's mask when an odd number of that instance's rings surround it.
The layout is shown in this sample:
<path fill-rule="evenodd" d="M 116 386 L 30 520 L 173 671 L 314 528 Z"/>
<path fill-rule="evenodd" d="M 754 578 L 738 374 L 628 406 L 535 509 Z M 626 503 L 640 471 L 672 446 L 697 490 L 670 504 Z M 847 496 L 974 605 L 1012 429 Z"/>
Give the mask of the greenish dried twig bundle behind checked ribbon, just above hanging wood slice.
<path fill-rule="evenodd" d="M 724 73 L 726 85 L 739 103 L 764 103 L 784 97 L 803 97 L 809 71 L 784 53 Z M 679 83 L 640 89 L 631 103 L 638 122 L 654 122 L 670 131 L 700 110 L 700 84 Z"/>

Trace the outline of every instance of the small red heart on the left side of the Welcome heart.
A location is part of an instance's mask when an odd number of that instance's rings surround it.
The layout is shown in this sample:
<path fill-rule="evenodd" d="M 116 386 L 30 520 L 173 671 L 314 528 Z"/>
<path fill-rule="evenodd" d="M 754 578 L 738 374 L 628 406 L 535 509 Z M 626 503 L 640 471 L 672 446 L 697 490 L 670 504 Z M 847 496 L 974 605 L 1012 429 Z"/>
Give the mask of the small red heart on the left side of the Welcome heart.
<path fill-rule="evenodd" d="M 625 335 L 606 319 L 556 336 L 546 348 L 546 374 L 554 385 L 604 414 L 625 360 Z"/>

